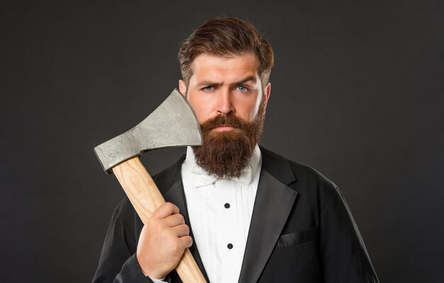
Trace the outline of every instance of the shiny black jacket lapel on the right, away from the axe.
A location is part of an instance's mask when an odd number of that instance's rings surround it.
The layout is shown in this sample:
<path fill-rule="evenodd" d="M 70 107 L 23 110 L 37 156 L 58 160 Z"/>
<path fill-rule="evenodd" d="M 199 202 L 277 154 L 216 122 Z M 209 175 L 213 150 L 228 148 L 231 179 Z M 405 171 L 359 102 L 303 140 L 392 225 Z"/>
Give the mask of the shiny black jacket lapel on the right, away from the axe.
<path fill-rule="evenodd" d="M 262 170 L 239 277 L 242 283 L 259 279 L 297 195 L 287 187 L 296 182 L 288 161 L 263 148 L 261 152 Z"/>

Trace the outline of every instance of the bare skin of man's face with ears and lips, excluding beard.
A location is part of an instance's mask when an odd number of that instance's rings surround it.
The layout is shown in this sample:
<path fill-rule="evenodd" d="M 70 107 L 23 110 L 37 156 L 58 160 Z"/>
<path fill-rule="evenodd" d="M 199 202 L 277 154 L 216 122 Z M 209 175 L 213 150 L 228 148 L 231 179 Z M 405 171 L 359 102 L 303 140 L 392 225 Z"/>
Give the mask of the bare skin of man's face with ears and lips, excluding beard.
<path fill-rule="evenodd" d="M 262 89 L 258 68 L 259 60 L 253 53 L 231 57 L 203 53 L 192 62 L 188 87 L 181 79 L 179 89 L 201 124 L 228 113 L 251 122 L 260 107 L 267 106 L 270 96 L 270 84 Z M 219 126 L 212 131 L 231 130 L 229 126 Z"/>

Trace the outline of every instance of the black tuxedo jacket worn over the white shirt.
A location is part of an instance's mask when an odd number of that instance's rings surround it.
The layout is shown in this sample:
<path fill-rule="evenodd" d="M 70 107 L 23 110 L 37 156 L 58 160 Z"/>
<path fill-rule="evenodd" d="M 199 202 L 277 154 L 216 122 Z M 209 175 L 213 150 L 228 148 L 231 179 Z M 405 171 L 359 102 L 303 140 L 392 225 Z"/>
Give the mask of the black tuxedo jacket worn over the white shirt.
<path fill-rule="evenodd" d="M 262 170 L 239 282 L 378 282 L 338 187 L 311 167 L 264 148 L 261 152 Z M 154 179 L 165 200 L 179 206 L 189 225 L 180 173 L 183 160 Z M 94 283 L 151 282 L 135 257 L 142 227 L 130 201 L 123 199 L 111 218 Z M 190 250 L 209 282 L 196 245 Z M 182 282 L 175 271 L 167 279 Z"/>

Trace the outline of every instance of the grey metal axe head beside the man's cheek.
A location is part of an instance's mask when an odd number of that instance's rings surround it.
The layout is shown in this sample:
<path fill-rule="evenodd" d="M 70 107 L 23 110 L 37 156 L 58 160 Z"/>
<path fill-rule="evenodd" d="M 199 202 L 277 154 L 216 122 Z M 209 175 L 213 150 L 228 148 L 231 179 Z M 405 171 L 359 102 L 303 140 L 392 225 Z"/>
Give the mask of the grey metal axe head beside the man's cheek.
<path fill-rule="evenodd" d="M 150 116 L 131 130 L 94 148 L 107 173 L 116 165 L 147 150 L 201 145 L 202 134 L 196 115 L 177 89 Z"/>

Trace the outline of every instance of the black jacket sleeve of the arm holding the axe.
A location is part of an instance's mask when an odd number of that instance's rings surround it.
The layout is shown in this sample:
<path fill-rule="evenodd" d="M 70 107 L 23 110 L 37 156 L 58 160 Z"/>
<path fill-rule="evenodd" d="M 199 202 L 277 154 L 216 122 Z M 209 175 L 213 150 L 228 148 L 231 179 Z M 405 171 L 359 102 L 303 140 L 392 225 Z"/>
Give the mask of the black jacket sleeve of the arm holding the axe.
<path fill-rule="evenodd" d="M 135 237 L 125 223 L 118 208 L 109 223 L 101 250 L 99 266 L 93 283 L 135 283 L 151 282 L 145 277 L 137 258 Z"/>

